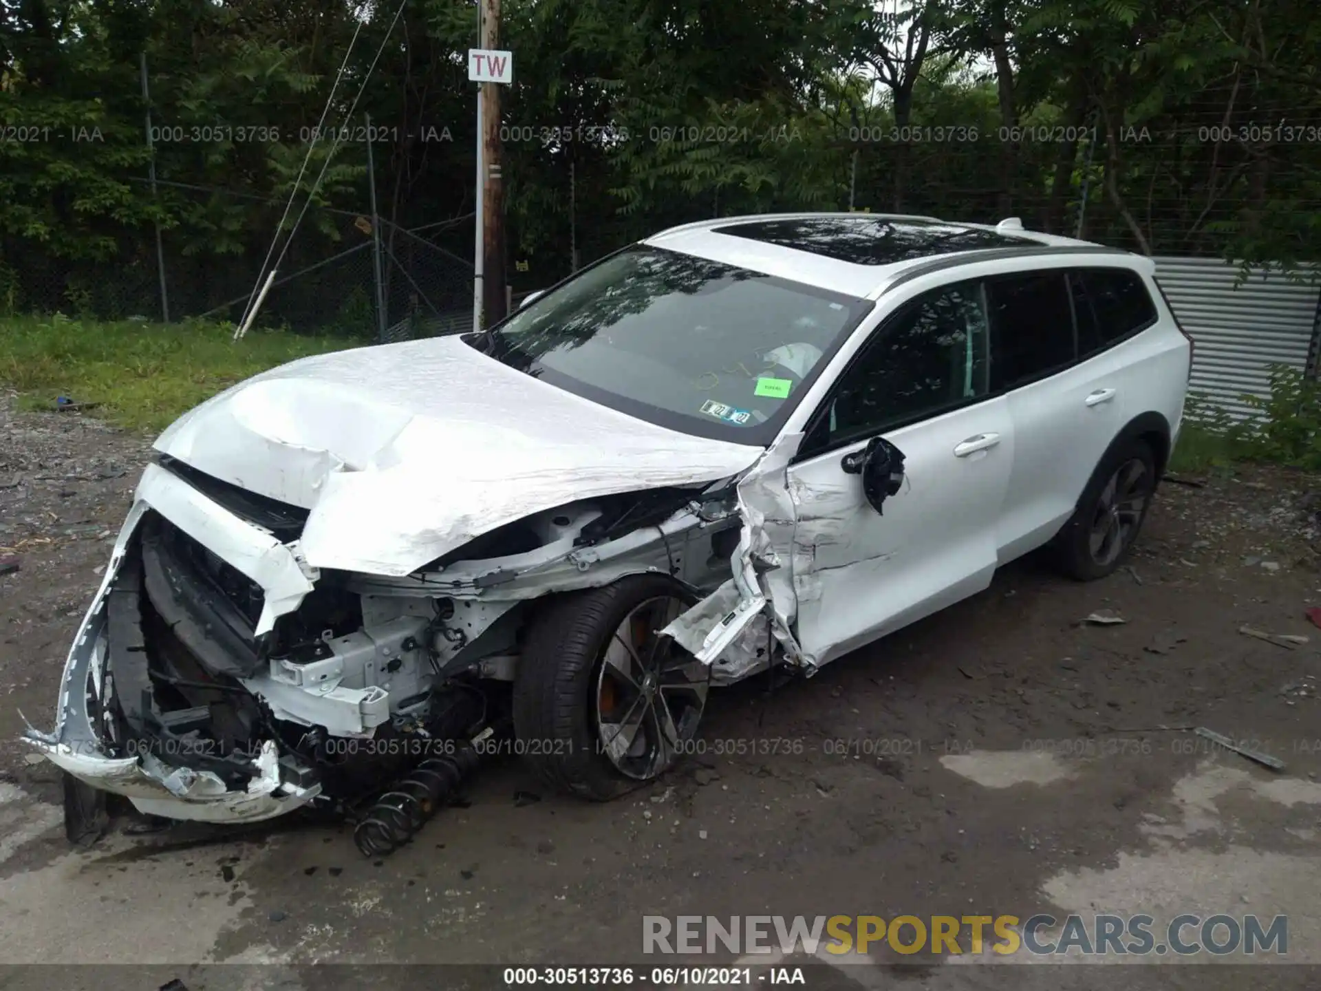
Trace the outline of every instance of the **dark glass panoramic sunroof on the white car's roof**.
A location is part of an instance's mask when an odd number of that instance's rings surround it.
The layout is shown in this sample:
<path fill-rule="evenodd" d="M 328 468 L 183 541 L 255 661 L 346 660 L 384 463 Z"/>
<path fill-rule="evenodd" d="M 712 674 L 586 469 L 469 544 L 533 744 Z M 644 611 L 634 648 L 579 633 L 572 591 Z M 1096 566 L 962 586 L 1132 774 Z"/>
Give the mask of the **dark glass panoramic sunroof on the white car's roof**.
<path fill-rule="evenodd" d="M 1028 238 L 1012 238 L 952 223 L 890 221 L 865 215 L 749 221 L 712 230 L 859 266 L 888 266 L 950 251 L 1034 243 Z"/>

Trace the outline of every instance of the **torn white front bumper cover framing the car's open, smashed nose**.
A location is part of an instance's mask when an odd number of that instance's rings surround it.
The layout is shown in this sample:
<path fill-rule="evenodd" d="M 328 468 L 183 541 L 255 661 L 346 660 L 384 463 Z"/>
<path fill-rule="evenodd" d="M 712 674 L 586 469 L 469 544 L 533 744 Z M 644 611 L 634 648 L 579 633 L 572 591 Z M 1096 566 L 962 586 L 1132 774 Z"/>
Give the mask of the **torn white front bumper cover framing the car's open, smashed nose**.
<path fill-rule="evenodd" d="M 262 585 L 263 612 L 258 632 L 269 630 L 279 616 L 292 612 L 312 591 L 314 569 L 303 566 L 295 548 L 248 523 L 177 476 L 149 465 L 137 486 L 133 507 L 120 529 L 100 589 L 96 592 L 69 651 L 59 688 L 55 731 L 29 728 L 25 740 L 53 764 L 100 791 L 124 795 L 151 815 L 203 822 L 258 822 L 296 809 L 320 793 L 281 774 L 276 743 L 266 740 L 250 754 L 251 778 L 242 789 L 219 774 L 162 760 L 143 748 L 116 754 L 106 706 L 115 688 L 107 661 L 110 596 L 144 515 L 153 510 L 227 564 Z M 120 633 L 120 630 L 115 630 Z M 144 662 L 145 663 L 145 662 Z M 122 678 L 125 683 L 127 678 Z"/>

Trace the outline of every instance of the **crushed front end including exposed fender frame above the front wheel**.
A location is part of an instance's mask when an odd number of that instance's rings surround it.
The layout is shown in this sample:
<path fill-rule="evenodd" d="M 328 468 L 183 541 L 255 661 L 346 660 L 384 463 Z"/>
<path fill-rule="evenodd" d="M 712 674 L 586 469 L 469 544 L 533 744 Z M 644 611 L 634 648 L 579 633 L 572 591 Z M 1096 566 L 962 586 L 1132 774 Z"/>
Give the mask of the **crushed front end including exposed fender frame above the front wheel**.
<path fill-rule="evenodd" d="M 741 522 L 731 481 L 621 493 L 391 576 L 309 564 L 309 517 L 168 456 L 147 468 L 69 653 L 55 729 L 26 733 L 83 803 L 91 789 L 229 823 L 354 807 L 428 758 L 444 765 L 446 744 L 509 729 L 534 600 L 641 572 L 705 595 L 728 584 Z M 712 683 L 769 663 L 752 637 Z M 441 765 L 427 773 L 448 777 Z"/>

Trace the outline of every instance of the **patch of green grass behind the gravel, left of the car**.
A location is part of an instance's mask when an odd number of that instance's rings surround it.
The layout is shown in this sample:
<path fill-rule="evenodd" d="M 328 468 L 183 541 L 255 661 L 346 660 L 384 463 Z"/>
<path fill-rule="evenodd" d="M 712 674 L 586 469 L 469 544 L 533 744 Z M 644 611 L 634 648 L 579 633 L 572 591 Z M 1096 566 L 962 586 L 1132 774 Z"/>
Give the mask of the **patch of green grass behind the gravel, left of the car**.
<path fill-rule="evenodd" d="M 0 318 L 0 383 L 25 408 L 57 396 L 98 403 L 95 415 L 133 431 L 160 431 L 227 386 L 308 354 L 363 342 L 250 330 L 232 341 L 227 324 L 100 322 L 54 317 Z"/>

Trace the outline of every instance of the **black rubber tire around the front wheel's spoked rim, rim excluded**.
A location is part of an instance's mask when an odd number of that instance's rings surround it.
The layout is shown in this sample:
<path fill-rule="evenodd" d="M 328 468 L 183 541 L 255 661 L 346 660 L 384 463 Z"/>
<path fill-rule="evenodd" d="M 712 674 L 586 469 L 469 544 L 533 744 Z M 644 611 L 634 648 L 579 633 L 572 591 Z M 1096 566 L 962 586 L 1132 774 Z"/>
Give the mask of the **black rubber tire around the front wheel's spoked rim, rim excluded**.
<path fill-rule="evenodd" d="M 550 786 L 604 802 L 654 781 L 674 765 L 676 748 L 654 774 L 625 774 L 606 756 L 597 715 L 602 704 L 601 669 L 621 624 L 627 620 L 631 625 L 639 608 L 660 599 L 675 600 L 683 608 L 694 601 L 663 575 L 634 575 L 602 588 L 555 596 L 532 620 L 514 678 L 514 735 L 527 764 Z M 672 641 L 658 643 L 667 657 L 682 653 Z M 691 661 L 686 669 L 697 665 L 691 654 L 683 657 Z M 654 687 L 651 692 L 658 695 Z M 670 728 L 675 725 L 671 720 Z M 688 739 L 695 728 L 694 720 L 687 727 Z"/>

